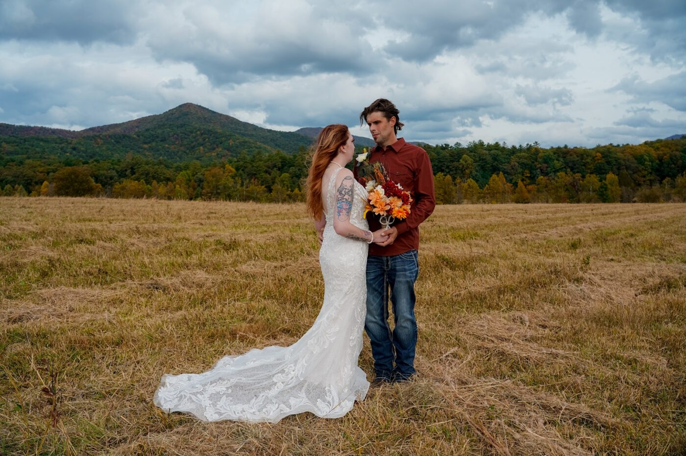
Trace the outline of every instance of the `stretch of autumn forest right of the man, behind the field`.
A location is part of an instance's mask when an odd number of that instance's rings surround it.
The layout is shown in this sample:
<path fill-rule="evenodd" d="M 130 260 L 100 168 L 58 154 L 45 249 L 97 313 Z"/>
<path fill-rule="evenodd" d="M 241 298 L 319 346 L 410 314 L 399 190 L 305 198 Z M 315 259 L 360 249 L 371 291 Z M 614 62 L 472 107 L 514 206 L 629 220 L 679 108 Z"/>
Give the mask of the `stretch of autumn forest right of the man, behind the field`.
<path fill-rule="evenodd" d="M 686 139 L 592 149 L 482 141 L 424 147 L 444 203 L 657 202 L 684 199 Z"/>

